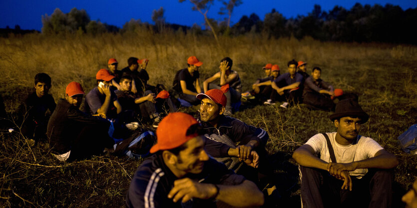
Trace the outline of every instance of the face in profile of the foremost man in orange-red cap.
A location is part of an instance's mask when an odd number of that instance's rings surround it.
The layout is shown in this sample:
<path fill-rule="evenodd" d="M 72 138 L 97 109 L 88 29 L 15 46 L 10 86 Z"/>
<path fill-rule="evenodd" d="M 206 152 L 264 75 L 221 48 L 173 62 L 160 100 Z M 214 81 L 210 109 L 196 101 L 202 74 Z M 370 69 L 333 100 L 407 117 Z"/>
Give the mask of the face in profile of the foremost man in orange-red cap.
<path fill-rule="evenodd" d="M 199 174 L 203 171 L 204 161 L 209 159 L 204 150 L 204 141 L 201 136 L 194 137 L 186 143 L 187 148 L 179 152 L 175 168 L 184 174 Z"/>

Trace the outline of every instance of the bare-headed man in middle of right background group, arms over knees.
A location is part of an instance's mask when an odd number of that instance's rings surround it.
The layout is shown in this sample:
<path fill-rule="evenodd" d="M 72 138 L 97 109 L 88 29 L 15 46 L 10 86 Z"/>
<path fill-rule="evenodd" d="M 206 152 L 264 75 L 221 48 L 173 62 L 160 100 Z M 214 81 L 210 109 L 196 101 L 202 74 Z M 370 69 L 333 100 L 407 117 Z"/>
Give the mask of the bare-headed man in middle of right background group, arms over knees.
<path fill-rule="evenodd" d="M 297 73 L 297 61 L 294 59 L 289 61 L 288 73 L 281 74 L 272 83 L 271 86 L 274 89 L 271 94 L 271 103 L 276 101 L 284 101 L 282 108 L 288 108 L 291 104 L 298 104 L 303 91 L 302 88 L 303 75 Z M 280 87 L 278 83 L 285 81 L 284 86 Z"/>

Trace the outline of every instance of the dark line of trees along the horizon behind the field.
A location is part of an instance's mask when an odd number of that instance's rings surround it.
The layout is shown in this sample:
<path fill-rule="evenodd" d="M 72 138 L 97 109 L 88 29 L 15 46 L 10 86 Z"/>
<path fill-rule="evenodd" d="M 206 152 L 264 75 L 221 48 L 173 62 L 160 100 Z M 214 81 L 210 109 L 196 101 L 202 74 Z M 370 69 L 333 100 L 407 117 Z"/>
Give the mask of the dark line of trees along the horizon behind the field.
<path fill-rule="evenodd" d="M 234 6 L 241 3 L 237 1 Z M 231 25 L 230 16 L 233 6 L 225 5 L 229 7 L 225 7 L 219 13 L 227 14 L 228 18 L 216 20 L 205 16 L 205 25 L 208 29 L 202 29 L 198 24 L 192 27 L 169 24 L 165 22 L 162 7 L 152 12 L 154 24 L 141 22 L 140 19 L 131 19 L 122 28 L 102 23 L 100 20 L 90 20 L 84 9 L 73 8 L 70 12 L 63 13 L 56 8 L 50 16 L 42 15 L 42 33 L 46 35 L 62 33 L 96 35 L 105 32 L 134 32 L 137 29 L 151 29 L 155 32 L 168 29 L 206 35 L 214 34 L 216 39 L 220 35 L 238 36 L 259 33 L 269 38 L 294 36 L 302 39 L 311 36 L 322 41 L 417 44 L 417 38 L 412 32 L 417 26 L 417 7 L 403 10 L 400 6 L 392 4 L 371 6 L 356 3 L 350 10 L 335 6 L 332 10 L 323 11 L 321 6 L 316 4 L 307 15 L 298 15 L 295 18 L 286 18 L 278 10 L 272 9 L 271 12 L 265 14 L 264 20 L 252 13 L 249 16 L 242 16 L 238 22 Z M 198 9 L 197 5 L 193 9 Z M 225 12 L 225 9 L 228 12 Z"/>

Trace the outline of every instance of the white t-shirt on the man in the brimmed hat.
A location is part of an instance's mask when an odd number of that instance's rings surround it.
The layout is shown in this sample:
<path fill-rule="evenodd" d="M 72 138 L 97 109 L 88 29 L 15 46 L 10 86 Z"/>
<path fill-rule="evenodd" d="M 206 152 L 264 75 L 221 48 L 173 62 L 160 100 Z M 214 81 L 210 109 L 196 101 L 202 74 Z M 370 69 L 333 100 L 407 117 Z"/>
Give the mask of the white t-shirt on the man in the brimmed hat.
<path fill-rule="evenodd" d="M 357 141 L 345 146 L 336 142 L 336 132 L 326 134 L 329 136 L 338 163 L 352 163 L 354 161 L 373 158 L 378 151 L 384 149 L 380 144 L 369 137 L 358 135 Z M 329 148 L 327 147 L 326 138 L 323 134 L 314 135 L 307 141 L 306 145 L 310 145 L 313 148 L 315 155 L 320 155 L 320 159 L 328 163 L 331 162 Z M 349 175 L 360 179 L 367 173 L 368 169 L 356 169 L 355 171 L 351 171 Z"/>

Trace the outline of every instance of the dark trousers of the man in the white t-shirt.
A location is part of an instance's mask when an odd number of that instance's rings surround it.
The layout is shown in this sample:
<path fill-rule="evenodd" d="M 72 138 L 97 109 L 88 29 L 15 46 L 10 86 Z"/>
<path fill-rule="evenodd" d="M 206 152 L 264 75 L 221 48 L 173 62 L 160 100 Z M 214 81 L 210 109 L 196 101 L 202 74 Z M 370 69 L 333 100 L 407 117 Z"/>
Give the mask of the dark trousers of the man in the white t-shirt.
<path fill-rule="evenodd" d="M 352 191 L 342 190 L 343 181 L 316 168 L 300 166 L 300 180 L 303 208 L 391 208 L 392 169 L 369 169 L 362 179 L 352 178 Z"/>

